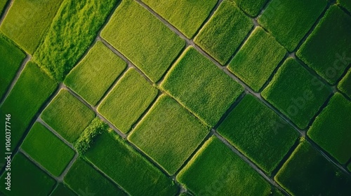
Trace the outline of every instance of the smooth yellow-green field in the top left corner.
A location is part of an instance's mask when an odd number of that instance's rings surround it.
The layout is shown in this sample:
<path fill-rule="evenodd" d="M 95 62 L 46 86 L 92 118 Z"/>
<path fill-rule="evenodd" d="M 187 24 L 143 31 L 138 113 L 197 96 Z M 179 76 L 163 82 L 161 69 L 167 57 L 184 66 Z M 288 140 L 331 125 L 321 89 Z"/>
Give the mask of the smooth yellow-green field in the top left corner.
<path fill-rule="evenodd" d="M 15 0 L 1 23 L 0 31 L 33 54 L 61 3 L 62 0 Z"/>

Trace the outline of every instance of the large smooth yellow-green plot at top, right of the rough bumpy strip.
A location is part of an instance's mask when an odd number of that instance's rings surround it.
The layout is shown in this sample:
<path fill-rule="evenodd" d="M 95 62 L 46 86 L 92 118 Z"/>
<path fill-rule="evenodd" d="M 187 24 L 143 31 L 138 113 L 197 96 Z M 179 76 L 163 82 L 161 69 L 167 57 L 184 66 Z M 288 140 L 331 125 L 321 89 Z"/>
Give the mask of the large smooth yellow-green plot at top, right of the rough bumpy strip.
<path fill-rule="evenodd" d="M 154 83 L 164 75 L 185 46 L 182 38 L 131 0 L 121 2 L 101 36 Z"/>

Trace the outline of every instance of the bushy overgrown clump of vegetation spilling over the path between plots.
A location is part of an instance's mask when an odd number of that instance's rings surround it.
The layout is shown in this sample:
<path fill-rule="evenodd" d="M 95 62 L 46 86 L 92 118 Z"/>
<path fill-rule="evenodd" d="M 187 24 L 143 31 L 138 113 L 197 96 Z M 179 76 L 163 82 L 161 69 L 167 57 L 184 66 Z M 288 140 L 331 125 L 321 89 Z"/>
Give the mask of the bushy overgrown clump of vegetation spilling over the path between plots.
<path fill-rule="evenodd" d="M 91 144 L 93 144 L 94 138 L 108 129 L 110 129 L 110 127 L 100 120 L 100 118 L 94 118 L 84 132 L 81 132 L 81 136 L 74 143 L 74 148 L 77 149 L 79 154 L 84 154 L 90 148 Z"/>

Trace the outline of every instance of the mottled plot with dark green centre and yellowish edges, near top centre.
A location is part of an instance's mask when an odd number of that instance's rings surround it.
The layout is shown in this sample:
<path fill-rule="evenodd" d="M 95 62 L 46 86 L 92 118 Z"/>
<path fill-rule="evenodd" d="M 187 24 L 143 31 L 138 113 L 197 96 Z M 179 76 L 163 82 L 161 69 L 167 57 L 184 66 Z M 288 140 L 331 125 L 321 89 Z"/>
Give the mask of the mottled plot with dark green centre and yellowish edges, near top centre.
<path fill-rule="evenodd" d="M 202 27 L 194 42 L 224 65 L 253 27 L 253 23 L 233 2 L 223 1 Z"/>

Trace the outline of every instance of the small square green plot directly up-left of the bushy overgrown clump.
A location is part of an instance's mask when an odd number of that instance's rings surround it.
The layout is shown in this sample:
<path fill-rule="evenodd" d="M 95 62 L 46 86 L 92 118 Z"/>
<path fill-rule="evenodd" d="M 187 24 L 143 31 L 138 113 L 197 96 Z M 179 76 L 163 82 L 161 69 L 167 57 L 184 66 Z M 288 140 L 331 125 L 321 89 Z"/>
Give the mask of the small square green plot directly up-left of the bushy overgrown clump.
<path fill-rule="evenodd" d="M 70 143 L 78 139 L 94 117 L 93 111 L 65 89 L 41 113 L 41 119 Z"/>

